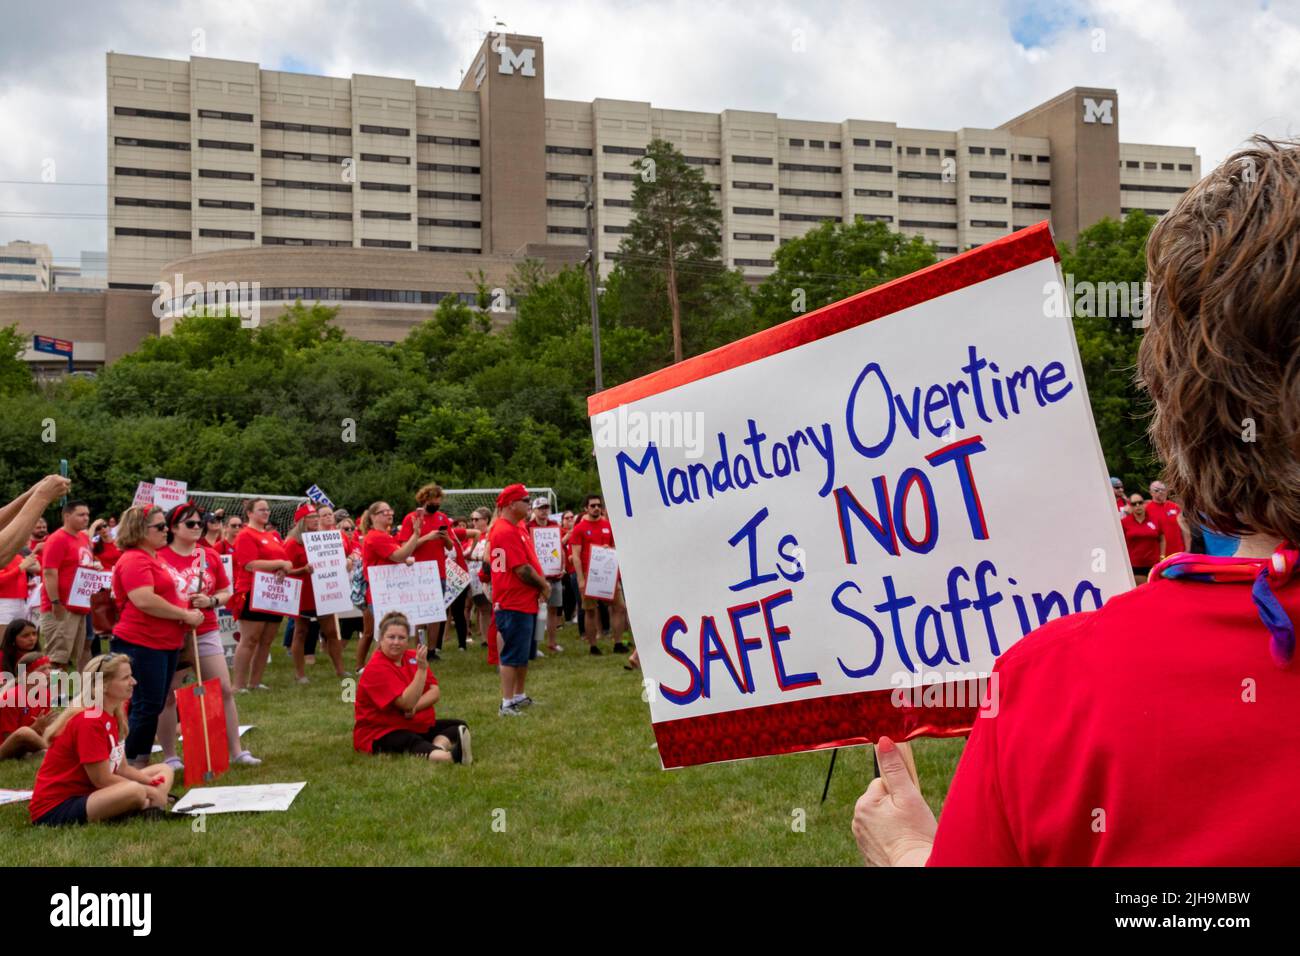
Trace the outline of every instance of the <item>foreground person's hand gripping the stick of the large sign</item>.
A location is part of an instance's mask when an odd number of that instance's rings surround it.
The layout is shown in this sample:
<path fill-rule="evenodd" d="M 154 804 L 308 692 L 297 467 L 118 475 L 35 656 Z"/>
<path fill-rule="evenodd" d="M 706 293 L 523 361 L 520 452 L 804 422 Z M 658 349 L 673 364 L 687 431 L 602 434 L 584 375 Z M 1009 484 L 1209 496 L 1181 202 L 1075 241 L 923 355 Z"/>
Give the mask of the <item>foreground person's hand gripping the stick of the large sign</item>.
<path fill-rule="evenodd" d="M 889 737 L 876 743 L 880 777 L 858 797 L 853 836 L 874 866 L 924 866 L 939 823 Z"/>

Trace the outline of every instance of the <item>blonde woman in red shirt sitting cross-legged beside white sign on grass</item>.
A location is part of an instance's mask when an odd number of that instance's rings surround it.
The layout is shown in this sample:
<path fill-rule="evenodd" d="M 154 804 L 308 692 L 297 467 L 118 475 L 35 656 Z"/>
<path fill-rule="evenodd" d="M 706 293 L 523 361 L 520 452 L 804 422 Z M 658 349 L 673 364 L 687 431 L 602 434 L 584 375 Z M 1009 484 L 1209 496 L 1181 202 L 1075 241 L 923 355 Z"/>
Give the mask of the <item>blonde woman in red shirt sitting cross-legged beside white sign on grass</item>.
<path fill-rule="evenodd" d="M 126 654 L 103 654 L 86 666 L 81 704 L 46 732 L 49 749 L 29 805 L 32 823 L 87 823 L 166 809 L 172 767 L 136 769 L 125 761 L 122 710 L 134 689 Z"/>

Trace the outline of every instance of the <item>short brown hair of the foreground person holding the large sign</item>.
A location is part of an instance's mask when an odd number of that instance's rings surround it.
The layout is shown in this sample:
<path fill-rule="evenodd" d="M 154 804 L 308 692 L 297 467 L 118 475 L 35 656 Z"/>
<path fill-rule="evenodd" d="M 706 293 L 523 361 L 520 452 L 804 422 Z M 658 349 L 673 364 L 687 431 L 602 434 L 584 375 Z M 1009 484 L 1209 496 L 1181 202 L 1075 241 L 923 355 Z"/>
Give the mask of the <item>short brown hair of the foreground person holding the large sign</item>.
<path fill-rule="evenodd" d="M 1300 542 L 1300 143 L 1254 137 L 1147 241 L 1138 377 L 1191 520 Z"/>

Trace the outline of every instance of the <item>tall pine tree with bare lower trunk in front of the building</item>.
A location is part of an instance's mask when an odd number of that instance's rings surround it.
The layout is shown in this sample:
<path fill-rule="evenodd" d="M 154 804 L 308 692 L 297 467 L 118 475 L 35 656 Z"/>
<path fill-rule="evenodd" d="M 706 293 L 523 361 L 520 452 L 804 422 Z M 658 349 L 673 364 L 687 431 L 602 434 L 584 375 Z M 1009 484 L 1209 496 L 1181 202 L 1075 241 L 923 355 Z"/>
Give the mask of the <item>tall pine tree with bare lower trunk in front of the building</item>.
<path fill-rule="evenodd" d="M 672 360 L 681 362 L 684 287 L 707 286 L 727 271 L 719 259 L 722 212 L 703 170 L 689 165 L 672 143 L 651 139 L 633 165 L 640 176 L 619 268 L 634 280 L 645 304 L 653 306 L 662 289 L 672 323 Z"/>

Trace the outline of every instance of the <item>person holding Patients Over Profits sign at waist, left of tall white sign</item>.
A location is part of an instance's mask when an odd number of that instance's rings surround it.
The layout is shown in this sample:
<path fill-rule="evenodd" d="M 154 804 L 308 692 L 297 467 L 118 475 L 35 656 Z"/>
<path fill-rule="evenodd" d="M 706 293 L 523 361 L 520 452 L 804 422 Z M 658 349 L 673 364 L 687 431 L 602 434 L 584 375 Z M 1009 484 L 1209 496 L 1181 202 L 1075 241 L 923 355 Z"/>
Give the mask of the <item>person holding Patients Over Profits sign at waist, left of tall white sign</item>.
<path fill-rule="evenodd" d="M 247 524 L 235 538 L 235 593 L 230 600 L 230 609 L 239 619 L 235 693 L 247 691 L 250 685 L 259 691 L 270 689 L 261 683 L 261 675 L 266 670 L 266 656 L 283 620 L 280 614 L 252 609 L 254 575 L 272 574 L 282 580 L 294 567 L 285 553 L 280 532 L 270 527 L 270 503 L 265 498 L 254 498 L 248 502 L 244 518 Z"/>

